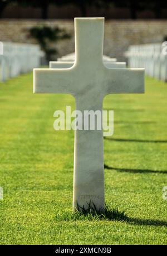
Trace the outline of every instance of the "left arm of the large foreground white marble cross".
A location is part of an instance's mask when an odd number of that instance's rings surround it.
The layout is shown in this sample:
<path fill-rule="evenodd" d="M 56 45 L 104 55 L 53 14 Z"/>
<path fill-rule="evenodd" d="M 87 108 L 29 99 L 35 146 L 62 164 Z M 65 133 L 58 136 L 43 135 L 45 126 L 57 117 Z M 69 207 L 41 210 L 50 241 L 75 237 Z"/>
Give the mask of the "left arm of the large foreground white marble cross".
<path fill-rule="evenodd" d="M 34 69 L 33 93 L 74 93 L 75 71 L 70 69 Z"/>

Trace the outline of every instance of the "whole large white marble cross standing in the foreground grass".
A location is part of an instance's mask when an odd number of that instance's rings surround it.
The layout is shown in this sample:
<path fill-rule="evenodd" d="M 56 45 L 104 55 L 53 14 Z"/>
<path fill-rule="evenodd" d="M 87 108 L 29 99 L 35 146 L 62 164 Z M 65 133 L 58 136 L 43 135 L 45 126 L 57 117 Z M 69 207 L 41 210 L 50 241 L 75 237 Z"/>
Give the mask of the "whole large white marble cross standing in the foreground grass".
<path fill-rule="evenodd" d="M 35 69 L 34 93 L 72 94 L 82 113 L 102 113 L 107 94 L 144 93 L 144 69 L 109 69 L 102 60 L 103 41 L 104 18 L 75 18 L 74 64 Z M 89 205 L 105 209 L 103 131 L 97 129 L 75 131 L 73 210 Z"/>

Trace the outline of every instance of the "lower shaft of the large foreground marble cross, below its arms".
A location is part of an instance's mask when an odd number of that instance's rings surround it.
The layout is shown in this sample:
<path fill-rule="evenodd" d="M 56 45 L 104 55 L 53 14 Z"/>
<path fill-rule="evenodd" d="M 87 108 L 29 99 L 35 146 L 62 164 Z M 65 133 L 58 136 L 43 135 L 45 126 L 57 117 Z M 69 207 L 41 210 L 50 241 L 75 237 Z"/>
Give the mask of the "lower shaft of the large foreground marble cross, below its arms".
<path fill-rule="evenodd" d="M 85 108 L 85 100 L 76 99 L 76 109 L 100 110 L 102 124 L 102 99 L 90 102 Z M 83 118 L 84 119 L 84 118 Z M 84 123 L 84 122 L 83 122 Z M 84 126 L 84 124 L 83 124 Z M 96 209 L 104 210 L 104 150 L 103 131 L 76 130 L 75 131 L 75 158 L 73 178 L 73 210 L 87 209 L 96 205 Z"/>

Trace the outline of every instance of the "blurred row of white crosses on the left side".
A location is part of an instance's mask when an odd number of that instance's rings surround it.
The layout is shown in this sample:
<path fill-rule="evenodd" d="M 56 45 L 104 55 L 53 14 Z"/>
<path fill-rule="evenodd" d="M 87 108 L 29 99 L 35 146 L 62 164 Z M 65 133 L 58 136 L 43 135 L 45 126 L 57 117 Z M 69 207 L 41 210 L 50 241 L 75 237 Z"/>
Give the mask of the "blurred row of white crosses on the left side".
<path fill-rule="evenodd" d="M 6 81 L 40 67 L 43 53 L 38 45 L 1 43 L 0 81 Z"/>

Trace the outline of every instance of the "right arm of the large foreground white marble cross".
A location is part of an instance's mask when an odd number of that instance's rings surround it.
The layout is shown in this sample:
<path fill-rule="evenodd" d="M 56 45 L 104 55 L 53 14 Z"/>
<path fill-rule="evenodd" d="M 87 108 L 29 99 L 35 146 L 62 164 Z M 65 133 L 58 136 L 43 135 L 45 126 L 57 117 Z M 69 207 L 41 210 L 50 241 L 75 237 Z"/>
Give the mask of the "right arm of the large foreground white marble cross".
<path fill-rule="evenodd" d="M 144 93 L 144 69 L 105 69 L 105 94 Z"/>

